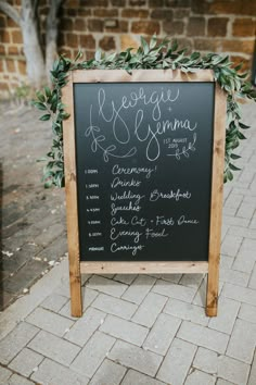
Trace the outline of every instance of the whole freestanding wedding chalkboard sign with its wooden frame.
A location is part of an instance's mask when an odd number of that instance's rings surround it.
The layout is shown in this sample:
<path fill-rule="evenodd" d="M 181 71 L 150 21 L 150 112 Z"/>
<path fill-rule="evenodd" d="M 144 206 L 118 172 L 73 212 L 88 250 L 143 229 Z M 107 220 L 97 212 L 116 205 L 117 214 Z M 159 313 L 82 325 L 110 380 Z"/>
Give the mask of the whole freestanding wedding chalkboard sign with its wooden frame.
<path fill-rule="evenodd" d="M 75 71 L 64 102 L 72 280 L 207 272 L 216 309 L 226 102 L 212 72 Z"/>

